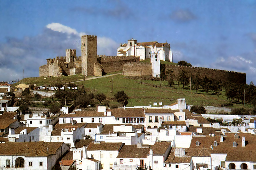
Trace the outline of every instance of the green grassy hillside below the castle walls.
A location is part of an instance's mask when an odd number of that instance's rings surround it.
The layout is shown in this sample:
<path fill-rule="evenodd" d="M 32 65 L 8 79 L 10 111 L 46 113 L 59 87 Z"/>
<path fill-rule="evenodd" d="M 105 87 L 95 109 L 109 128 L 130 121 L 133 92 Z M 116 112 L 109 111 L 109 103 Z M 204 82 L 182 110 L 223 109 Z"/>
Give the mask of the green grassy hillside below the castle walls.
<path fill-rule="evenodd" d="M 112 91 L 112 77 L 113 77 L 113 92 Z M 78 80 L 83 80 L 81 74 L 74 76 L 62 76 L 62 77 L 33 77 L 25 78 L 19 83 L 24 82 L 25 84 L 36 84 L 40 85 L 54 85 L 56 83 L 70 83 Z M 110 77 L 97 78 L 93 80 L 81 81 L 76 84 L 81 87 L 85 87 L 87 92 L 92 92 L 94 94 L 104 93 L 107 96 L 108 103 L 117 104 L 114 100 L 114 94 L 117 91 L 123 90 L 129 97 L 129 106 L 148 106 L 152 105 L 154 102 L 162 102 L 163 105 L 169 105 L 177 102 L 178 98 L 186 98 L 186 103 L 189 105 L 203 105 L 203 106 L 220 106 L 221 104 L 228 103 L 226 101 L 225 92 L 222 91 L 221 94 L 213 95 L 212 91 L 208 94 L 202 91 L 198 91 L 197 94 L 195 90 L 189 90 L 189 86 L 182 89 L 182 85 L 177 86 L 177 84 L 170 87 L 167 81 L 157 80 L 140 80 L 128 79 L 122 75 L 115 75 Z M 13 84 L 17 85 L 19 83 Z M 157 86 L 157 87 L 156 87 Z M 159 106 L 159 105 L 158 105 Z M 233 107 L 240 107 L 242 104 L 234 104 Z"/>

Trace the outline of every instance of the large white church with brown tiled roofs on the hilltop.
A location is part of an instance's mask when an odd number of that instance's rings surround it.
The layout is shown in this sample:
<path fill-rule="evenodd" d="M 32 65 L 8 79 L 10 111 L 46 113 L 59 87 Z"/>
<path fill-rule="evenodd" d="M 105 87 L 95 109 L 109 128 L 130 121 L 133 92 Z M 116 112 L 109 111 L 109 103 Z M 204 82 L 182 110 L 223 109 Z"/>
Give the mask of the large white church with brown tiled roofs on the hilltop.
<path fill-rule="evenodd" d="M 154 42 L 138 42 L 137 40 L 128 40 L 128 43 L 120 44 L 117 49 L 117 56 L 137 56 L 140 60 L 145 60 L 151 57 L 154 48 L 159 52 L 160 60 L 172 62 L 172 51 L 170 44 Z"/>

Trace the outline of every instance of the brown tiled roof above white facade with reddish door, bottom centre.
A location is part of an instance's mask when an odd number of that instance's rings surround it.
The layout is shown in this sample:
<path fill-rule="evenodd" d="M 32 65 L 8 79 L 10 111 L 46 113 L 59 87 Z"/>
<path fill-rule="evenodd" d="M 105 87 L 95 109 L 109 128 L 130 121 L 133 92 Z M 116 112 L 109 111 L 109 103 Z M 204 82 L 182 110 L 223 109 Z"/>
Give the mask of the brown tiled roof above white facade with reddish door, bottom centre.
<path fill-rule="evenodd" d="M 147 158 L 150 148 L 137 148 L 137 145 L 124 145 L 117 158 Z"/>

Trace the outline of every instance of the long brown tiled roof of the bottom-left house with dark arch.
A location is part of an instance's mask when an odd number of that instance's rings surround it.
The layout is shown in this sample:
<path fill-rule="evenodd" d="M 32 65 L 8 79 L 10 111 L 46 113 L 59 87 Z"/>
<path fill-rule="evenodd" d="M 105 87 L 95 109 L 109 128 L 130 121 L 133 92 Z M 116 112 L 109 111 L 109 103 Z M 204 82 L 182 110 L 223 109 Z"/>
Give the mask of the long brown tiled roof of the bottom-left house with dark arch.
<path fill-rule="evenodd" d="M 1 155 L 47 156 L 55 154 L 63 142 L 6 142 L 0 143 Z M 48 148 L 48 152 L 47 152 Z"/>

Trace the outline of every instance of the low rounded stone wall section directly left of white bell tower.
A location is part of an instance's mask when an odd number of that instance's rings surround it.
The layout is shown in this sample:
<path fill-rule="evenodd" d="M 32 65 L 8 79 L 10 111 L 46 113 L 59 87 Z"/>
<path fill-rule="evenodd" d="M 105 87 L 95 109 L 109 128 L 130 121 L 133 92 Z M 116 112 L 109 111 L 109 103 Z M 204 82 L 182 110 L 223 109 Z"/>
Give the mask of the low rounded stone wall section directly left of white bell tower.
<path fill-rule="evenodd" d="M 123 66 L 124 76 L 151 76 L 151 63 L 126 63 Z"/>

